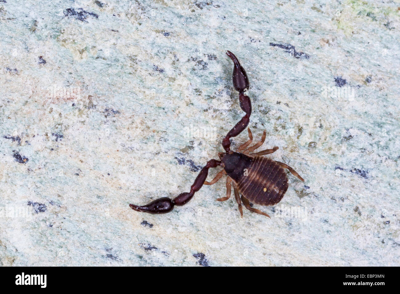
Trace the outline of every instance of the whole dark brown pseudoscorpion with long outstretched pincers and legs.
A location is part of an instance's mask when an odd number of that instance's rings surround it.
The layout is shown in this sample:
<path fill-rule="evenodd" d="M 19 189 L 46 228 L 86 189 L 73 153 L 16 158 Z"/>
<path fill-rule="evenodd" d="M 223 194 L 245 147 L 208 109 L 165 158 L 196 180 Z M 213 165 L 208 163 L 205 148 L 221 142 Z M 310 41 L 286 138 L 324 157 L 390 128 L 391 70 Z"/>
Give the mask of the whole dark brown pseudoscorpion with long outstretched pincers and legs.
<path fill-rule="evenodd" d="M 208 160 L 206 166 L 202 168 L 194 184 L 190 187 L 190 192 L 181 193 L 174 199 L 162 197 L 143 206 L 129 204 L 133 210 L 148 213 L 170 212 L 175 205 L 181 206 L 188 203 L 189 200 L 192 199 L 194 193 L 200 190 L 203 184 L 212 185 L 224 174 L 227 174 L 226 197 L 218 198 L 217 201 L 228 200 L 231 196 L 231 186 L 233 185 L 235 199 L 238 203 L 241 216 L 243 216 L 243 204 L 248 210 L 269 217 L 265 212 L 252 208 L 250 206 L 250 201 L 260 205 L 274 205 L 280 202 L 288 189 L 288 178 L 284 168 L 287 168 L 294 176 L 304 181 L 303 178 L 287 164 L 274 161 L 270 158 L 261 157 L 262 155 L 275 152 L 278 150 L 278 147 L 251 153 L 264 143 L 266 137 L 265 131 L 262 134 L 261 141 L 249 147 L 253 140 L 253 135 L 250 128 L 248 128 L 249 140 L 240 145 L 237 152 L 230 150 L 230 138 L 238 136 L 238 134 L 246 129 L 250 122 L 252 109 L 250 98 L 244 94 L 249 88 L 246 71 L 232 52 L 228 51 L 226 55 L 228 55 L 234 63 L 232 75 L 233 85 L 239 92 L 240 108 L 246 112 L 246 115 L 242 117 L 222 140 L 222 147 L 225 152 L 218 153 L 220 160 Z M 218 172 L 211 182 L 207 182 L 208 169 L 216 168 L 217 166 L 221 166 L 223 170 Z M 240 193 L 242 196 L 240 196 Z"/>

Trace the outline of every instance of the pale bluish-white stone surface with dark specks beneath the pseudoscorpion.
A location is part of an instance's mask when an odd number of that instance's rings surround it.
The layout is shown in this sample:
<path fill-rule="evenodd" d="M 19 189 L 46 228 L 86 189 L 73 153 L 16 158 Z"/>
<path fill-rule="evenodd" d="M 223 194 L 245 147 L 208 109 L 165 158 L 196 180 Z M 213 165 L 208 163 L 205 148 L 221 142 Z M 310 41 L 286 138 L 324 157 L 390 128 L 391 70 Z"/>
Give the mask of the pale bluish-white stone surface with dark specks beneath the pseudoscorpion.
<path fill-rule="evenodd" d="M 0 264 L 400 265 L 400 4 L 244 3 L 0 1 Z M 243 116 L 226 50 L 260 150 L 305 182 L 270 219 L 216 202 L 224 179 L 134 212 L 187 192 Z"/>

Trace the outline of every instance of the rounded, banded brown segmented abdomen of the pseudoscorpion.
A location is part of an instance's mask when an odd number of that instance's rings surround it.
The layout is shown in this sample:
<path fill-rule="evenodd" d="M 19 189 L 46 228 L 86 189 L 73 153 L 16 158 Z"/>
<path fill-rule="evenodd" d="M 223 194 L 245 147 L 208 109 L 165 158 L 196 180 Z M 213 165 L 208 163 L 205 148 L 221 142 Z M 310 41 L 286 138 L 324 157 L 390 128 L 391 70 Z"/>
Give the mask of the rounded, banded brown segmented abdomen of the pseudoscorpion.
<path fill-rule="evenodd" d="M 247 176 L 240 178 L 238 188 L 250 202 L 274 205 L 288 190 L 288 178 L 284 169 L 274 160 L 256 157 L 248 168 Z"/>

